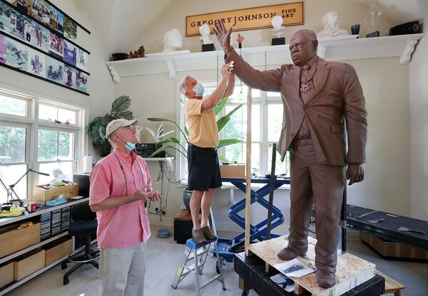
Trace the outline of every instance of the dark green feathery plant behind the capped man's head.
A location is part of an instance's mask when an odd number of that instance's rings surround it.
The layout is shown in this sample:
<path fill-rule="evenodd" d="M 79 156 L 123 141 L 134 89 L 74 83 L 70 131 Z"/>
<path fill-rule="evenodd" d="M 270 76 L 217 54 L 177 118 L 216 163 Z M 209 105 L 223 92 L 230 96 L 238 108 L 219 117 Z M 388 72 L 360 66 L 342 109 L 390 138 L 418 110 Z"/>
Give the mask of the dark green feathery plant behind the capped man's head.
<path fill-rule="evenodd" d="M 121 95 L 111 103 L 111 110 L 104 116 L 95 117 L 88 125 L 88 134 L 92 137 L 93 147 L 99 148 L 101 157 L 111 152 L 110 143 L 106 139 L 106 127 L 112 120 L 123 118 L 133 120 L 133 114 L 128 110 L 131 106 L 131 97 Z"/>

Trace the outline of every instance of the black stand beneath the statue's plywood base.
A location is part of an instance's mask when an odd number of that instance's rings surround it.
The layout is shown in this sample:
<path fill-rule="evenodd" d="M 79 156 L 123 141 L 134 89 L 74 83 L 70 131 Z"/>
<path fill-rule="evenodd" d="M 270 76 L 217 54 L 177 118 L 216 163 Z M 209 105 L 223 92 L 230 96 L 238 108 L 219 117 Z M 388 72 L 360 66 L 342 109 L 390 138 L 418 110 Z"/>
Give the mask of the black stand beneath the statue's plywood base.
<path fill-rule="evenodd" d="M 279 285 L 270 280 L 272 275 L 265 271 L 265 261 L 257 256 L 245 257 L 245 254 L 239 253 L 235 255 L 233 260 L 235 272 L 240 276 L 240 280 L 245 282 L 245 290 L 243 295 L 246 295 L 248 290 L 253 289 L 259 295 L 270 296 L 293 296 L 294 292 L 285 292 Z M 384 293 L 384 278 L 375 275 L 367 282 L 358 285 L 352 290 L 342 294 L 341 296 L 377 296 Z M 242 288 L 242 287 L 241 287 Z M 305 292 L 301 295 L 310 295 Z"/>

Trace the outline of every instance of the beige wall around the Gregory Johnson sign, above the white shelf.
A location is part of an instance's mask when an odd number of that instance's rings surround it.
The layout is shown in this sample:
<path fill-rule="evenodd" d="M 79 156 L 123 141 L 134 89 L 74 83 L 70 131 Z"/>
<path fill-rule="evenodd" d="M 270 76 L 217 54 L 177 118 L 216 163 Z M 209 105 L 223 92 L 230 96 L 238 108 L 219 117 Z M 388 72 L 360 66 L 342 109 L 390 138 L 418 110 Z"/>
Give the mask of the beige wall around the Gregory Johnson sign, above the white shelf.
<path fill-rule="evenodd" d="M 285 4 L 292 3 L 295 1 L 287 0 L 246 0 L 246 1 L 212 1 L 212 0 L 180 0 L 171 1 L 170 4 L 161 11 L 159 17 L 156 18 L 151 24 L 149 24 L 143 31 L 137 36 L 137 38 L 129 44 L 126 48 L 127 51 L 133 51 L 139 46 L 143 45 L 146 48 L 146 53 L 158 53 L 163 50 L 163 34 L 171 28 L 178 28 L 182 35 L 185 35 L 185 16 L 191 16 L 194 14 L 207 14 L 217 11 L 227 11 L 233 9 L 245 9 L 257 6 L 268 6 L 274 4 Z M 341 28 L 345 28 L 350 33 L 350 27 L 355 23 L 362 23 L 363 18 L 370 16 L 370 11 L 367 6 L 361 4 L 357 0 L 307 0 L 304 1 L 305 9 L 305 24 L 302 26 L 290 26 L 287 27 L 285 33 L 286 43 L 290 41 L 290 37 L 295 31 L 301 28 L 310 28 L 315 32 L 321 31 L 322 22 L 321 18 L 327 11 L 335 10 L 339 14 L 339 23 Z M 380 21 L 379 30 L 382 36 L 386 36 L 388 29 L 391 27 L 391 23 L 386 18 L 382 18 Z M 272 38 L 270 29 L 261 29 L 253 31 L 239 32 L 245 37 L 243 46 L 266 46 L 270 45 Z M 362 34 L 368 33 L 368 28 L 362 25 L 360 31 Z M 236 36 L 238 33 L 232 33 L 231 41 L 233 46 L 236 46 Z M 183 38 L 183 49 L 189 49 L 191 52 L 198 52 L 201 49 L 200 36 Z M 211 36 L 211 39 L 215 41 L 215 48 L 220 49 L 215 36 Z"/>

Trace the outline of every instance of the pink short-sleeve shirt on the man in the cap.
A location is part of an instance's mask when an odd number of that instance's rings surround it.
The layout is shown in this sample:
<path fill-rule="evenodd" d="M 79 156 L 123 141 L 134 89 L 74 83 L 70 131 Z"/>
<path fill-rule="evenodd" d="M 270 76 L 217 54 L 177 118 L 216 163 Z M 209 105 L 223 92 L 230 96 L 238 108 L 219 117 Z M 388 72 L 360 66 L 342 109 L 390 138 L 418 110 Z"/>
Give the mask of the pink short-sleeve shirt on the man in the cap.
<path fill-rule="evenodd" d="M 121 166 L 123 170 L 121 169 Z M 111 197 L 123 199 L 143 186 L 151 186 L 147 164 L 135 152 L 115 149 L 93 167 L 90 177 L 89 205 Z M 97 240 L 100 248 L 128 248 L 146 242 L 151 236 L 144 201 L 134 201 L 116 208 L 97 211 Z"/>

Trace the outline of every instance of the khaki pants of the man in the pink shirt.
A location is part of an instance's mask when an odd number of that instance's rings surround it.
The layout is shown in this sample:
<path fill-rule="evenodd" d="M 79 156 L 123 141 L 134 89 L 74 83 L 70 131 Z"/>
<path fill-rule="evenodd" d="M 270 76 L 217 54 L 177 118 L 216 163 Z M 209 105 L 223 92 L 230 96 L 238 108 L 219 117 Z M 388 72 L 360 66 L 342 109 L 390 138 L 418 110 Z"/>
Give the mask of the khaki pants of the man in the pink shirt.
<path fill-rule="evenodd" d="M 129 248 L 101 248 L 100 296 L 143 296 L 146 243 Z"/>

